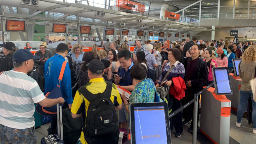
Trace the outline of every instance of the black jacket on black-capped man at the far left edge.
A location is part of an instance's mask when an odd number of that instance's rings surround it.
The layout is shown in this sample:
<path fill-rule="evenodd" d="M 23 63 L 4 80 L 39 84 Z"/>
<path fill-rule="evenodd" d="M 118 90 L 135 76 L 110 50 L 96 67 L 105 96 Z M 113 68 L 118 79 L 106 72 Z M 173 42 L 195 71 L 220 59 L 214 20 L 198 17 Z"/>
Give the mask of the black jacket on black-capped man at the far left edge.
<path fill-rule="evenodd" d="M 12 70 L 12 68 L 13 68 L 12 55 L 7 54 L 6 56 L 3 56 L 0 61 L 0 72 L 9 71 L 9 70 Z"/>

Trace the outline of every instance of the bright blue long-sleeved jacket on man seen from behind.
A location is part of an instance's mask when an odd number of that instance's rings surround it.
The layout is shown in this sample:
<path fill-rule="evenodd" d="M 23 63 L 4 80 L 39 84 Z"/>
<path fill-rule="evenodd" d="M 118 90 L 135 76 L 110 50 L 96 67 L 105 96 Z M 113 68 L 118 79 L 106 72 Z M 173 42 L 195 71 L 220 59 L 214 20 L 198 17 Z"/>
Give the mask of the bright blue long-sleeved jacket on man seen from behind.
<path fill-rule="evenodd" d="M 45 74 L 45 93 L 51 92 L 59 83 L 59 73 L 62 68 L 62 63 L 65 58 L 59 54 L 55 54 L 45 62 L 44 74 Z M 62 81 L 60 82 L 60 90 L 62 91 L 62 97 L 65 102 L 72 104 L 72 91 L 71 91 L 71 76 L 69 63 L 66 63 L 65 71 Z"/>

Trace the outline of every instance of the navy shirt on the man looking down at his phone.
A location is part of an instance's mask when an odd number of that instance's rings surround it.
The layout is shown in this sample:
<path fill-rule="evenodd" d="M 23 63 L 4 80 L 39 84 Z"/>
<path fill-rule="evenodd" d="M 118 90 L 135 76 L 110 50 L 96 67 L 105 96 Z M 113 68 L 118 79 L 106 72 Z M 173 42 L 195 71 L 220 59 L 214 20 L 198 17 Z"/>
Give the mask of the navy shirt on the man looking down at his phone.
<path fill-rule="evenodd" d="M 130 77 L 130 69 L 133 67 L 133 63 L 130 65 L 128 70 L 126 71 L 124 68 L 119 68 L 117 71 L 117 75 L 121 77 L 120 86 L 133 85 L 133 78 Z"/>

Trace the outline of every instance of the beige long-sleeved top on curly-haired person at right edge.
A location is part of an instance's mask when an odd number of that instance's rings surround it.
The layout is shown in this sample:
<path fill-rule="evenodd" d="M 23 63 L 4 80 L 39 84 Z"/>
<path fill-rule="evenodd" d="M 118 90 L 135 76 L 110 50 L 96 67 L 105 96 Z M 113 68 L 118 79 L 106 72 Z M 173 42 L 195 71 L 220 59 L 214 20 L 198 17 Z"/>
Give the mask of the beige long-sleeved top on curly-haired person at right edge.
<path fill-rule="evenodd" d="M 255 78 L 255 66 L 256 61 L 250 61 L 248 64 L 244 64 L 241 61 L 238 65 L 239 76 L 242 78 L 241 90 L 250 91 L 250 80 Z"/>

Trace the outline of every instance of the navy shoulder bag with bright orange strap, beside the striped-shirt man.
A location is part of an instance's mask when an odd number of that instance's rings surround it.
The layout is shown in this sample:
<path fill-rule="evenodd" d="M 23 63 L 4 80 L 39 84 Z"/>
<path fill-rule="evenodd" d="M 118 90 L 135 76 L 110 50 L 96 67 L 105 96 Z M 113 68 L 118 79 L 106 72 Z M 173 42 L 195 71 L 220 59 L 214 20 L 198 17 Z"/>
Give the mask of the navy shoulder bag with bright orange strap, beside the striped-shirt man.
<path fill-rule="evenodd" d="M 65 67 L 66 67 L 66 61 L 64 61 L 62 63 L 62 69 L 59 73 L 59 83 L 57 84 L 57 86 L 51 91 L 51 92 L 47 92 L 45 94 L 45 97 L 47 99 L 57 99 L 59 97 L 62 97 L 62 92 L 60 90 L 60 82 L 62 81 L 63 78 L 63 74 L 65 71 Z M 41 106 L 39 103 L 36 105 L 36 111 L 43 116 L 56 116 L 57 115 L 57 104 L 55 104 L 54 106 L 51 107 L 43 107 Z"/>

